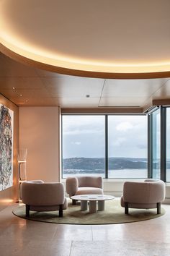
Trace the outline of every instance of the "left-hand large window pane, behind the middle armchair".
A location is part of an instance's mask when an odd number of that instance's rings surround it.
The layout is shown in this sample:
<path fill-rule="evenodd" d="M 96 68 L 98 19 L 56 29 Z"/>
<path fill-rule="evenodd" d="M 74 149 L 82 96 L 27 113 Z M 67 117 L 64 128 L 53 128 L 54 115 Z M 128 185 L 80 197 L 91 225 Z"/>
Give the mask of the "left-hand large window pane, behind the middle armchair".
<path fill-rule="evenodd" d="M 63 178 L 105 176 L 105 116 L 63 116 Z"/>

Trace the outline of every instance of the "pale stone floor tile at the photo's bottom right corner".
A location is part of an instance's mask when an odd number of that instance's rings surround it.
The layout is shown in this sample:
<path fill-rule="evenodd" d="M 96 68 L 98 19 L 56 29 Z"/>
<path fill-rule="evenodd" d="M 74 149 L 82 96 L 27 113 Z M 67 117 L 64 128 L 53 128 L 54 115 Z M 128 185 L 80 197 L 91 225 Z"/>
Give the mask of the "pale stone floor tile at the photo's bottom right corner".
<path fill-rule="evenodd" d="M 70 256 L 169 256 L 170 244 L 138 241 L 73 242 Z"/>

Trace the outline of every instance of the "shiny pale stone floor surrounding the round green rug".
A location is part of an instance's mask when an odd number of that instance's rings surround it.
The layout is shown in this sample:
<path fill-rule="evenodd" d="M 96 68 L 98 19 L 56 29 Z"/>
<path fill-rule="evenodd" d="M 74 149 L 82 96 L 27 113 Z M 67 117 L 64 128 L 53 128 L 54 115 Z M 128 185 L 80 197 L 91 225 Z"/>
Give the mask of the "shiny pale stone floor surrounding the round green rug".
<path fill-rule="evenodd" d="M 1 256 L 170 255 L 170 205 L 160 218 L 99 226 L 27 221 L 12 214 L 17 206 L 0 212 Z"/>

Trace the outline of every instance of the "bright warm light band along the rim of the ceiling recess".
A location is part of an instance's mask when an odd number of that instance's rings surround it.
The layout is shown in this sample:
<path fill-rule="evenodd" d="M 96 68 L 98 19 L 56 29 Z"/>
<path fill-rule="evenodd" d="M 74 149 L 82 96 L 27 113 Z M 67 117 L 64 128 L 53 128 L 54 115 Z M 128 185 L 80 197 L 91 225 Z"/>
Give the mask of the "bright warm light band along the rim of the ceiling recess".
<path fill-rule="evenodd" d="M 13 40 L 14 41 L 14 40 Z M 73 59 L 55 54 L 50 54 L 48 51 L 40 51 L 34 46 L 22 45 L 22 40 L 16 41 L 12 45 L 12 40 L 6 42 L 1 38 L 1 43 L 9 48 L 9 50 L 24 56 L 33 61 L 38 61 L 43 64 L 53 65 L 55 67 L 63 67 L 68 69 L 77 69 L 90 72 L 108 72 L 108 73 L 145 73 L 145 72 L 169 72 L 170 60 L 162 62 L 146 62 L 146 63 L 106 63 L 92 61 L 87 59 Z M 20 48 L 19 48 L 20 46 Z"/>

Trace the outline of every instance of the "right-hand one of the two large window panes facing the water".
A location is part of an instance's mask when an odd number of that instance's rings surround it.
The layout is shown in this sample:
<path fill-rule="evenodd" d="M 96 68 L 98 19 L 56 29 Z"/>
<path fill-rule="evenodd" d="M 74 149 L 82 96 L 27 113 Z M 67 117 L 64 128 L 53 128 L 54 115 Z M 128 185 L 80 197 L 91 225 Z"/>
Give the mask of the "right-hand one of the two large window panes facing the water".
<path fill-rule="evenodd" d="M 108 116 L 109 178 L 148 176 L 147 116 Z"/>

